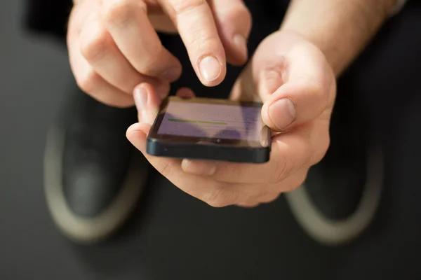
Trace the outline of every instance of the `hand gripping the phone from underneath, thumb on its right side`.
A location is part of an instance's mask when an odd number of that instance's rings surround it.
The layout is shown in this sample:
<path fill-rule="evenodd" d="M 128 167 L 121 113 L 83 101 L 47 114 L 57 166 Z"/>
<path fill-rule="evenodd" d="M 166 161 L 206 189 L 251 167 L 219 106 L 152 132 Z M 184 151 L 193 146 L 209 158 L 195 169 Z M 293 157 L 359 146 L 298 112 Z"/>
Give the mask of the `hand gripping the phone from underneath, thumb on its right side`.
<path fill-rule="evenodd" d="M 140 123 L 127 137 L 175 186 L 213 207 L 254 207 L 298 188 L 329 145 L 335 76 L 323 53 L 292 32 L 262 41 L 236 82 L 232 99 L 264 102 L 262 118 L 272 128 L 271 160 L 262 165 L 155 158 L 145 153 L 146 135 L 161 100 L 150 85 L 135 98 Z M 187 89 L 178 92 L 192 95 Z"/>

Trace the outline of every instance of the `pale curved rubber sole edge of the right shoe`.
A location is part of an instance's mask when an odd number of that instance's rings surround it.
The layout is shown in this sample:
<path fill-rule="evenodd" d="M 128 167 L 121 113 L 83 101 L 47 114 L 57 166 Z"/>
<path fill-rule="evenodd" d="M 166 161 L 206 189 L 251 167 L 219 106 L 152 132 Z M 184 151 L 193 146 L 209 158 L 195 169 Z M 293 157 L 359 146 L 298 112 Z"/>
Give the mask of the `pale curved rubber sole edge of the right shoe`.
<path fill-rule="evenodd" d="M 356 211 L 342 221 L 332 221 L 312 203 L 305 183 L 293 192 L 286 193 L 286 200 L 300 226 L 321 244 L 335 246 L 359 237 L 368 228 L 380 204 L 383 185 L 383 158 L 380 149 L 368 155 L 367 181 Z"/>

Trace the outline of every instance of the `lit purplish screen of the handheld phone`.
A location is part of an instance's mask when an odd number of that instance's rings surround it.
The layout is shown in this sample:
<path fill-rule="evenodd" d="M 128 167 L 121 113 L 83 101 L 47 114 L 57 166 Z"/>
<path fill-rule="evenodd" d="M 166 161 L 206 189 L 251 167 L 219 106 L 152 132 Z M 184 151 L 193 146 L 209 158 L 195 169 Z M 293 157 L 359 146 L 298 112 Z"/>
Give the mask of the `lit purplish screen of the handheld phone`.
<path fill-rule="evenodd" d="M 260 141 L 261 106 L 171 101 L 158 134 L 208 139 Z"/>

